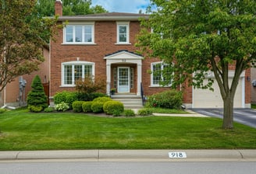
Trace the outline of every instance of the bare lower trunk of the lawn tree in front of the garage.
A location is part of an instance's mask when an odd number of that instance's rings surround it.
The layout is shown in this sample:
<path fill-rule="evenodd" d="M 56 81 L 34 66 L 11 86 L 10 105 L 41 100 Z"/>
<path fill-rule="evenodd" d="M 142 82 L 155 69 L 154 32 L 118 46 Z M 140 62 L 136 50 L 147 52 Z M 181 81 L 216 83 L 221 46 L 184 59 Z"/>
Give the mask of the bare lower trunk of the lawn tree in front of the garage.
<path fill-rule="evenodd" d="M 233 97 L 229 96 L 223 99 L 224 112 L 223 112 L 223 129 L 233 129 Z"/>

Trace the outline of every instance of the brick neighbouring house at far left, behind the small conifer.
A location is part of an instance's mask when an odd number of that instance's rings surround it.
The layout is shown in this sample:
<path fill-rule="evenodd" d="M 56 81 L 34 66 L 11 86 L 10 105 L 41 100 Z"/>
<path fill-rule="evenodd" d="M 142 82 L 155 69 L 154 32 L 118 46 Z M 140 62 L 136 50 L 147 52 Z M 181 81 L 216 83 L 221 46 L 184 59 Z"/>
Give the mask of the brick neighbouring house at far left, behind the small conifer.
<path fill-rule="evenodd" d="M 26 106 L 27 105 L 27 93 L 31 90 L 31 83 L 35 75 L 39 75 L 42 83 L 48 83 L 49 81 L 49 47 L 44 46 L 42 48 L 44 54 L 44 62 L 39 65 L 39 71 L 34 71 L 30 75 L 22 75 L 16 78 L 13 82 L 6 85 L 5 89 L 0 92 L 0 107 L 1 106 Z M 20 80 L 26 81 L 26 85 L 23 91 L 20 92 Z"/>

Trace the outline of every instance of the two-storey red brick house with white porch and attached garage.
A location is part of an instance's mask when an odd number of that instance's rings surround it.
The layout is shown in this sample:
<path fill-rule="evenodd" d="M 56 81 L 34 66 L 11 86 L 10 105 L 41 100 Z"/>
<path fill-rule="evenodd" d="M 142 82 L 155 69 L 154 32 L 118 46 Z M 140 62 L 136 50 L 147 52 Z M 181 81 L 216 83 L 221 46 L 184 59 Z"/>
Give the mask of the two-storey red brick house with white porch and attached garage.
<path fill-rule="evenodd" d="M 55 14 L 59 23 L 66 24 L 59 30 L 55 41 L 51 41 L 50 99 L 56 92 L 74 91 L 75 82 L 85 75 L 104 75 L 106 93 L 116 88 L 119 94 L 144 95 L 162 92 L 168 87 L 159 85 L 161 75 L 149 74 L 165 66 L 158 58 L 136 54 L 136 36 L 140 31 L 140 18 L 144 14 L 109 12 L 87 16 L 62 16 L 62 2 L 55 2 Z M 210 75 L 210 74 L 209 74 Z M 231 70 L 229 76 L 233 76 Z M 237 87 L 235 107 L 249 107 L 251 104 L 250 69 L 241 75 Z M 215 92 L 187 87 L 183 103 L 191 107 L 222 107 L 219 87 Z"/>

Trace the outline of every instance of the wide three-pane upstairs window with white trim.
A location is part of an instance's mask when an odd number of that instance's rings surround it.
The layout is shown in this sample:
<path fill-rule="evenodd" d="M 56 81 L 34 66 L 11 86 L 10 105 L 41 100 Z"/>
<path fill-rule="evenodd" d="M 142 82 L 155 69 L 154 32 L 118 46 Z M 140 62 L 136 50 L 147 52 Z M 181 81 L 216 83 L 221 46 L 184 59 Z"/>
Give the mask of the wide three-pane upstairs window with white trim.
<path fill-rule="evenodd" d="M 64 44 L 94 44 L 94 23 L 70 23 L 63 30 Z"/>

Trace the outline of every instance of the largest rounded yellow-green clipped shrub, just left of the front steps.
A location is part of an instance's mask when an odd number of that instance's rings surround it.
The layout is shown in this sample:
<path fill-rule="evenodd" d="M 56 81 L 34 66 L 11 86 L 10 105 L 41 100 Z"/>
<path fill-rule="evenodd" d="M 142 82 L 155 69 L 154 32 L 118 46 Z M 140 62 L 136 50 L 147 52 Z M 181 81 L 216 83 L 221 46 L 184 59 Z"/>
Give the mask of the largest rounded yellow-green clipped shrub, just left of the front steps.
<path fill-rule="evenodd" d="M 119 113 L 123 113 L 124 107 L 123 103 L 112 100 L 104 103 L 103 110 L 105 113 L 112 115 L 116 111 L 119 111 Z"/>

